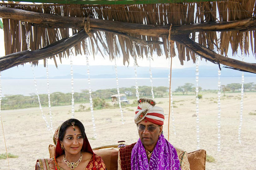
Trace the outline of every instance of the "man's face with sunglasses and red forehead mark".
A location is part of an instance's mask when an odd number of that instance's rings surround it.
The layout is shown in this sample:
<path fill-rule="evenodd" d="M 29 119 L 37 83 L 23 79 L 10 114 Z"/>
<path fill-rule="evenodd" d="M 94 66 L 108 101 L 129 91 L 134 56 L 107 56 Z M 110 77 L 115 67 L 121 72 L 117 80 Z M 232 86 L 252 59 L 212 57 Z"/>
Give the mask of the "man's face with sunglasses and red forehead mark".
<path fill-rule="evenodd" d="M 137 126 L 140 140 L 144 145 L 145 149 L 155 147 L 158 137 L 162 133 L 163 126 L 159 126 L 157 124 L 149 122 L 146 119 L 138 123 Z M 143 129 L 143 126 L 145 127 L 145 129 L 142 131 L 140 129 Z"/>

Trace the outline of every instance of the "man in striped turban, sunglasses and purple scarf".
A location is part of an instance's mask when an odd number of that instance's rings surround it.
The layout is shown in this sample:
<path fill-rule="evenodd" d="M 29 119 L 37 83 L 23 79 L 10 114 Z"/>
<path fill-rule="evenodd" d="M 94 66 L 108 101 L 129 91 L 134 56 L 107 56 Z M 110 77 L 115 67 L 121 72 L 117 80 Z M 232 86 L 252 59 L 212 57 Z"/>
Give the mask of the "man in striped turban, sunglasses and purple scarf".
<path fill-rule="evenodd" d="M 118 170 L 181 169 L 176 149 L 162 134 L 165 120 L 163 109 L 155 105 L 156 102 L 150 98 L 138 100 L 134 121 L 140 138 L 136 143 L 119 150 Z M 186 169 L 189 169 L 188 161 L 185 162 L 188 164 Z"/>

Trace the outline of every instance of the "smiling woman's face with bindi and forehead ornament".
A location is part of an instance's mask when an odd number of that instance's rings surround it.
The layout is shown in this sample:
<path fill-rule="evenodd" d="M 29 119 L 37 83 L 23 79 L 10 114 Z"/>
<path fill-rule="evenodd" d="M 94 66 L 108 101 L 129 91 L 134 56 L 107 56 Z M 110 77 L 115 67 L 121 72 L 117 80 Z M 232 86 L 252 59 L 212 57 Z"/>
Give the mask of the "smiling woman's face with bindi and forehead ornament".
<path fill-rule="evenodd" d="M 80 154 L 83 142 L 84 140 L 79 127 L 75 126 L 74 130 L 72 126 L 69 126 L 62 140 L 66 155 Z"/>

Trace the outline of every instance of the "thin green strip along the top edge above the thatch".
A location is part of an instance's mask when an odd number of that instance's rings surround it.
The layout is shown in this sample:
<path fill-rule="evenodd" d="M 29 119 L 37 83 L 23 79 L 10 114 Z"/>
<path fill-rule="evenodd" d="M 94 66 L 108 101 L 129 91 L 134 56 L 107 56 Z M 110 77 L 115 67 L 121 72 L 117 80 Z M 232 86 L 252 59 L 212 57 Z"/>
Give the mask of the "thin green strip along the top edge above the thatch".
<path fill-rule="evenodd" d="M 12 0 L 18 1 L 20 0 Z M 156 3 L 187 3 L 187 2 L 209 2 L 221 0 L 22 0 L 22 2 L 58 3 L 58 4 L 156 4 Z M 222 0 L 223 1 L 223 0 Z"/>

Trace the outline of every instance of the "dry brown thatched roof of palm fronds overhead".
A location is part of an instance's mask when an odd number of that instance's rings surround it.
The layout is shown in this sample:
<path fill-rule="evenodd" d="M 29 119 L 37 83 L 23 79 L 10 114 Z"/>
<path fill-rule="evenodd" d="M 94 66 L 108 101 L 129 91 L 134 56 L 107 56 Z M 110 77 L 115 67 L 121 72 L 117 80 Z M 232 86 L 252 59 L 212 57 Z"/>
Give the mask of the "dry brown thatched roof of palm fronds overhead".
<path fill-rule="evenodd" d="M 11 7 L 15 9 L 22 9 L 26 11 L 33 11 L 37 13 L 54 14 L 57 16 L 69 16 L 80 18 L 97 18 L 110 21 L 121 21 L 126 23 L 137 23 L 143 25 L 158 26 L 180 26 L 191 25 L 196 23 L 205 23 L 211 21 L 234 21 L 242 20 L 246 18 L 255 17 L 255 0 L 228 0 L 217 2 L 190 2 L 190 3 L 172 3 L 172 4 L 136 4 L 136 5 L 74 5 L 74 4 L 18 4 L 18 3 L 0 3 L 0 6 Z M 218 14 L 217 14 L 218 12 Z M 219 16 L 219 17 L 217 17 Z M 47 44 L 53 44 L 60 41 L 62 38 L 69 37 L 69 28 L 47 28 L 47 34 L 45 34 L 44 27 L 37 27 L 36 24 L 26 22 L 26 30 L 29 34 L 30 48 L 31 50 L 37 50 L 46 46 L 45 35 L 47 35 Z M 32 26 L 33 25 L 33 26 Z M 87 22 L 88 26 L 88 22 Z M 3 19 L 4 29 L 4 42 L 5 53 L 9 55 L 11 53 L 27 50 L 25 27 L 21 24 L 21 21 L 14 19 Z M 80 28 L 72 28 L 73 35 L 79 30 L 83 29 L 83 25 Z M 218 29 L 217 29 L 218 30 Z M 147 30 L 145 30 L 147 31 Z M 242 31 L 221 30 L 221 55 L 226 56 L 228 50 L 232 50 L 233 54 L 236 54 L 240 48 L 242 51 Z M 256 55 L 254 38 L 255 30 L 245 30 L 245 53 L 251 50 L 254 56 Z M 95 33 L 89 37 L 91 52 L 95 55 L 97 52 L 103 56 L 108 55 L 110 59 L 113 59 L 113 37 L 115 32 L 96 30 Z M 129 63 L 129 57 L 132 54 L 131 37 L 137 37 L 144 41 L 160 41 L 161 43 L 153 43 L 148 45 L 152 48 L 151 52 L 156 52 L 158 56 L 165 55 L 168 57 L 167 46 L 168 36 L 148 36 L 141 33 L 138 34 L 126 34 L 123 36 L 117 34 L 116 39 L 116 53 L 123 55 L 124 64 Z M 191 40 L 195 41 L 195 32 L 191 31 Z M 217 33 L 216 30 L 200 31 L 199 32 L 199 44 L 214 50 L 217 45 Z M 184 61 L 195 61 L 195 53 L 180 42 L 176 41 L 176 47 L 181 64 Z M 103 47 L 103 48 L 102 48 Z M 230 49 L 231 47 L 231 49 Z M 85 43 L 82 41 L 74 45 L 75 55 L 83 54 L 85 51 Z M 69 50 L 63 53 L 53 56 L 54 59 L 58 57 L 67 57 Z M 136 44 L 136 55 L 138 57 L 144 57 L 148 55 L 148 47 L 144 45 Z M 174 46 L 172 46 L 171 56 L 175 56 Z"/>

